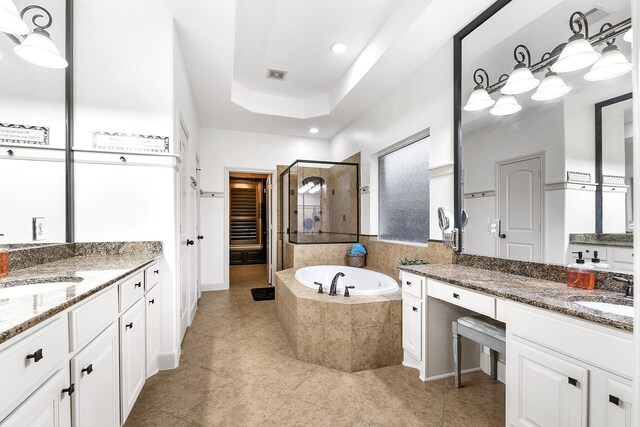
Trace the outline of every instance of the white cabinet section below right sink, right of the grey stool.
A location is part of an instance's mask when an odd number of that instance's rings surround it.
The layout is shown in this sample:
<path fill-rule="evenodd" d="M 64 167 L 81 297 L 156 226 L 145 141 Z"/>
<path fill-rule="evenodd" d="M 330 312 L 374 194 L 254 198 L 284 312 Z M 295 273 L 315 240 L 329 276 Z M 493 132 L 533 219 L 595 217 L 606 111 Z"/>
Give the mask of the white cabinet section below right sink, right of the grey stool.
<path fill-rule="evenodd" d="M 631 427 L 633 335 L 507 305 L 509 426 Z"/>

